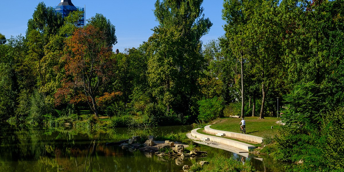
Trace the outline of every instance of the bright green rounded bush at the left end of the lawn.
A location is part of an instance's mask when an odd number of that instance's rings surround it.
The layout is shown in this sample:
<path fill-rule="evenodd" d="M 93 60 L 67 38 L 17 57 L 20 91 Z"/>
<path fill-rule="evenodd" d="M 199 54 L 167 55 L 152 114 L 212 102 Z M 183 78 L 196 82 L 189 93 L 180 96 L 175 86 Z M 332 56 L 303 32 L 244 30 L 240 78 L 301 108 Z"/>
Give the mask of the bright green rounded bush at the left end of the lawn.
<path fill-rule="evenodd" d="M 200 107 L 198 111 L 200 114 L 198 115 L 198 119 L 204 122 L 209 122 L 222 116 L 222 100 L 214 97 L 212 99 L 203 99 L 197 101 Z"/>

